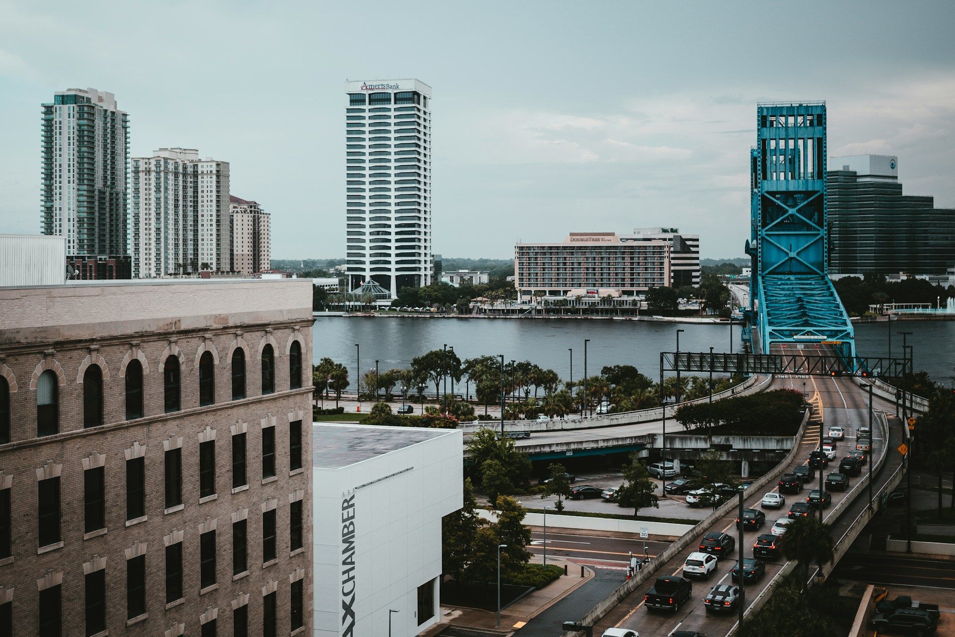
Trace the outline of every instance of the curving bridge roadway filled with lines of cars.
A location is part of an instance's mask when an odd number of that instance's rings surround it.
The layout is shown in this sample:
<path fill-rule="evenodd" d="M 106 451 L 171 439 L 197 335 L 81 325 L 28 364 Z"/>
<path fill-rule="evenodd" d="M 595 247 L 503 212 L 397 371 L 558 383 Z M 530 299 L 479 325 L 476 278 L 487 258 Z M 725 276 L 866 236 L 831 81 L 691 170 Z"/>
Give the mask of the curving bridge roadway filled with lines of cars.
<path fill-rule="evenodd" d="M 818 401 L 822 405 L 823 422 L 819 424 L 823 429 L 832 425 L 842 425 L 843 427 L 849 428 L 854 434 L 857 427 L 863 424 L 868 424 L 867 395 L 863 393 L 851 379 L 825 377 L 796 377 L 778 379 L 780 383 L 789 383 L 794 388 L 801 387 L 802 380 L 806 381 L 808 388 L 811 388 L 811 391 L 814 392 L 814 398 L 817 396 Z M 890 411 L 894 413 L 895 405 L 887 401 L 876 399 L 874 408 L 888 414 Z M 882 467 L 881 474 L 873 483 L 874 493 L 878 492 L 881 484 L 888 477 L 890 477 L 895 469 L 902 463 L 902 457 L 896 451 L 896 447 L 902 443 L 901 422 L 893 416 L 889 420 L 889 425 L 890 435 L 888 445 L 885 444 L 885 440 L 881 439 L 881 435 L 877 435 L 873 441 L 874 457 L 876 455 L 881 455 L 882 453 L 888 454 L 885 465 Z M 877 427 L 878 421 L 875 421 L 874 428 Z M 807 428 L 806 435 L 803 436 L 803 439 L 800 442 L 801 451 L 797 455 L 796 460 L 794 460 L 794 462 L 789 466 L 777 469 L 775 473 L 778 475 L 792 471 L 796 465 L 805 463 L 806 459 L 809 457 L 809 453 L 814 449 L 817 449 L 818 438 L 818 427 L 813 430 Z M 848 449 L 854 448 L 854 444 L 855 438 L 850 435 L 838 446 L 838 457 L 844 456 Z M 868 465 L 863 468 L 863 471 L 867 470 Z M 828 474 L 830 471 L 831 470 L 826 470 L 825 473 Z M 849 491 L 844 493 L 833 492 L 832 494 L 833 503 L 826 509 L 826 511 L 829 512 L 827 514 L 826 521 L 833 524 L 834 538 L 838 539 L 841 537 L 846 528 L 848 528 L 849 524 L 851 524 L 852 520 L 855 520 L 859 515 L 859 512 L 868 504 L 866 489 L 862 488 L 861 478 L 862 476 L 859 476 L 859 478 L 850 478 L 852 481 L 850 483 Z M 818 484 L 817 480 L 815 481 L 814 486 Z M 808 495 L 809 488 L 813 487 L 807 485 L 807 488 L 803 489 L 802 493 L 800 494 L 802 498 L 805 498 Z M 748 495 L 745 499 L 745 505 L 751 508 L 759 508 L 759 502 L 767 490 L 775 491 L 776 488 L 763 489 L 759 493 Z M 620 626 L 638 630 L 641 637 L 665 637 L 677 629 L 696 630 L 708 635 L 708 637 L 724 637 L 730 635 L 736 624 L 736 612 L 721 615 L 707 613 L 704 609 L 703 598 L 706 597 L 711 586 L 730 582 L 730 570 L 739 556 L 740 549 L 742 548 L 745 551 L 745 557 L 753 557 L 752 547 L 756 536 L 762 533 L 769 533 L 772 523 L 778 518 L 786 517 L 786 514 L 789 510 L 789 504 L 796 501 L 796 498 L 798 497 L 799 496 L 796 495 L 787 495 L 787 505 L 778 512 L 773 510 L 765 511 L 767 514 L 767 523 L 759 530 L 746 532 L 744 537 L 744 546 L 737 546 L 736 551 L 731 554 L 729 559 L 720 560 L 716 572 L 711 576 L 709 581 L 694 582 L 693 594 L 690 602 L 686 605 L 683 605 L 678 612 L 660 612 L 649 610 L 643 607 L 643 596 L 652 585 L 652 580 L 655 579 L 655 577 L 653 577 L 651 578 L 651 581 L 648 581 L 644 586 L 641 586 L 638 590 L 626 597 L 620 604 L 612 608 L 609 613 L 607 613 L 607 615 L 596 626 L 594 626 L 594 634 L 600 635 L 608 627 Z M 847 498 L 854 498 L 856 501 L 854 501 L 851 505 L 848 505 L 848 508 L 842 512 L 841 515 L 839 515 L 838 520 L 832 520 L 832 512 L 835 507 L 840 501 Z M 711 528 L 699 535 L 697 541 L 690 542 L 690 545 L 687 548 L 674 556 L 673 559 L 671 559 L 668 563 L 664 564 L 663 567 L 658 571 L 658 574 L 680 575 L 683 563 L 686 561 L 687 556 L 699 546 L 699 540 L 702 539 L 703 535 L 709 531 L 715 530 L 731 533 L 732 536 L 737 538 L 738 541 L 738 531 L 736 530 L 734 524 L 735 517 L 736 509 L 733 509 L 732 513 L 714 522 Z M 766 574 L 759 580 L 759 582 L 746 586 L 747 606 L 752 604 L 759 592 L 765 589 L 772 582 L 773 576 L 779 572 L 779 570 L 785 564 L 785 561 L 781 558 L 773 561 L 763 560 L 763 562 L 766 563 Z"/>

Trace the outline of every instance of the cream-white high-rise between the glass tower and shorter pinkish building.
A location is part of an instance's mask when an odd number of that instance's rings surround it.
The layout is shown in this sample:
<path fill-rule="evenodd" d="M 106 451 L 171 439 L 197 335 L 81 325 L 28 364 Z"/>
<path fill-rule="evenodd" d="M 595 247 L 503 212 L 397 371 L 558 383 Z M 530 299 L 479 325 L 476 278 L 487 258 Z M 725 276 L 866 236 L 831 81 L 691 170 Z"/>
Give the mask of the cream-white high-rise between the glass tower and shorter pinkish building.
<path fill-rule="evenodd" d="M 160 148 L 130 172 L 133 278 L 232 271 L 228 161 Z"/>

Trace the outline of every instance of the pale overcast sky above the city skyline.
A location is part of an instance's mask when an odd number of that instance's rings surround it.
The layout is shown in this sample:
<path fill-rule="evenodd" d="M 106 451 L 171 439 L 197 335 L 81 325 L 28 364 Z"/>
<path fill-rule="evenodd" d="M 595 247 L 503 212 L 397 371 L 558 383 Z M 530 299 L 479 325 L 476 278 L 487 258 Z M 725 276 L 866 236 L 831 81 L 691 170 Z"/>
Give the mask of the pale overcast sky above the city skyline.
<path fill-rule="evenodd" d="M 40 104 L 116 94 L 132 157 L 198 148 L 272 219 L 272 257 L 345 253 L 344 82 L 433 87 L 434 249 L 676 226 L 743 255 L 758 101 L 824 99 L 829 156 L 899 156 L 955 207 L 955 3 L 8 2 L 0 232 L 40 227 Z"/>

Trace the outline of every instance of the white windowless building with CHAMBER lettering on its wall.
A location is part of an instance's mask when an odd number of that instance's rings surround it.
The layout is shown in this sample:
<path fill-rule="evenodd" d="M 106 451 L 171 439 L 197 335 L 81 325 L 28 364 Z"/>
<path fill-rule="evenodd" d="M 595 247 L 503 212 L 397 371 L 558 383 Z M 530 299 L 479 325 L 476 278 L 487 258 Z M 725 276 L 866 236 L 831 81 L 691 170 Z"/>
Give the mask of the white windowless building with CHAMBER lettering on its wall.
<path fill-rule="evenodd" d="M 411 637 L 437 623 L 441 518 L 462 505 L 461 436 L 314 424 L 316 637 Z"/>

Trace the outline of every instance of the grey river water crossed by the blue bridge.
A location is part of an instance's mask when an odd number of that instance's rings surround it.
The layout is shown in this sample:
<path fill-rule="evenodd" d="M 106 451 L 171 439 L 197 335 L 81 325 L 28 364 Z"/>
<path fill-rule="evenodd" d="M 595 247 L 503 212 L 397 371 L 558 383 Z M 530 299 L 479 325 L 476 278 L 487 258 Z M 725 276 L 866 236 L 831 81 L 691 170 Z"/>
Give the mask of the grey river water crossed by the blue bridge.
<path fill-rule="evenodd" d="M 908 344 L 914 346 L 915 369 L 925 370 L 933 379 L 948 382 L 955 375 L 955 321 L 894 321 L 892 354 L 902 356 L 902 336 L 911 331 Z M 888 324 L 856 326 L 856 347 L 863 356 L 884 356 L 888 352 Z M 315 363 L 323 356 L 343 363 L 352 374 L 355 343 L 361 345 L 361 366 L 373 370 L 409 367 L 412 358 L 445 344 L 454 347 L 463 360 L 485 354 L 504 354 L 505 360 L 529 360 L 544 369 L 570 376 L 573 348 L 573 377 L 584 374 L 584 339 L 587 343 L 587 373 L 600 372 L 605 365 L 633 365 L 651 378 L 659 377 L 660 352 L 680 350 L 730 351 L 730 328 L 726 325 L 651 323 L 593 319 L 467 319 L 467 318 L 376 318 L 320 316 L 312 329 Z M 739 326 L 733 326 L 732 351 L 742 351 Z"/>

